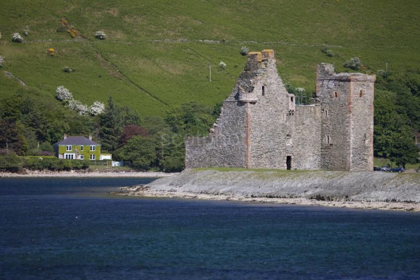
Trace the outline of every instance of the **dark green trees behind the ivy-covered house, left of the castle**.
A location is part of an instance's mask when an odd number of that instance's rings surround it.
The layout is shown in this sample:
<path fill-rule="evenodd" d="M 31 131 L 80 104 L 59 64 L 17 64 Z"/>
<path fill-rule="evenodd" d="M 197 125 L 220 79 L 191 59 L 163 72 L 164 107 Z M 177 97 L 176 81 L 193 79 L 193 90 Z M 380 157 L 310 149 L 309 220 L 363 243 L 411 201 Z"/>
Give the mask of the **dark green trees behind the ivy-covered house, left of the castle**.
<path fill-rule="evenodd" d="M 102 153 L 112 153 L 114 160 L 130 161 L 142 170 L 180 171 L 184 137 L 208 133 L 220 112 L 220 104 L 213 109 L 192 102 L 168 111 L 164 118 L 143 120 L 110 97 L 102 114 L 81 116 L 49 98 L 36 90 L 20 89 L 0 100 L 0 156 L 52 156 L 52 144 L 64 134 L 93 134 Z"/>

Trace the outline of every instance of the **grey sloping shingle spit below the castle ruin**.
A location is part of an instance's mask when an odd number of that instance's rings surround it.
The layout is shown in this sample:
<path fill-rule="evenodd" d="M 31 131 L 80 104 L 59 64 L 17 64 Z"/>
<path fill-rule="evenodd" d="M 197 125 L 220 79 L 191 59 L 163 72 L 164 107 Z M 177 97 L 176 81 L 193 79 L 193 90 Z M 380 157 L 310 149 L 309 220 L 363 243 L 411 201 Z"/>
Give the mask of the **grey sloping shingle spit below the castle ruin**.
<path fill-rule="evenodd" d="M 420 211 L 420 175 L 190 169 L 120 195 Z"/>

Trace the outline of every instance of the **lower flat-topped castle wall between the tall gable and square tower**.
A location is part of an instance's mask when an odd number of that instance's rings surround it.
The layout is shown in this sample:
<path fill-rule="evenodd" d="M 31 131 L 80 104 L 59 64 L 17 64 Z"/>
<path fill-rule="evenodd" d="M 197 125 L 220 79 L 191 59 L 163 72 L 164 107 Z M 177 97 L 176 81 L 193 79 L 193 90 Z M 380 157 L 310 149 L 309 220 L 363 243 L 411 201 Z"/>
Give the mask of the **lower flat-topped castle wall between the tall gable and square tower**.
<path fill-rule="evenodd" d="M 321 169 L 321 106 L 296 106 L 292 168 Z"/>

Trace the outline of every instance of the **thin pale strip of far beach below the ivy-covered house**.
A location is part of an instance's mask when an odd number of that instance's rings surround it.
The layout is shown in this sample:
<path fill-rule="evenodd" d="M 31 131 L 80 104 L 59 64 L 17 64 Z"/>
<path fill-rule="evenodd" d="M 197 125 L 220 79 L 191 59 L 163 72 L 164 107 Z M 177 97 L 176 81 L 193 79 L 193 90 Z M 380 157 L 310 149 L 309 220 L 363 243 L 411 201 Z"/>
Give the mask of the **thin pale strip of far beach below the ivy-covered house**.
<path fill-rule="evenodd" d="M 161 178 L 177 173 L 164 172 L 77 172 L 77 171 L 27 171 L 27 174 L 0 172 L 0 178 L 37 178 L 37 177 L 146 177 Z"/>

